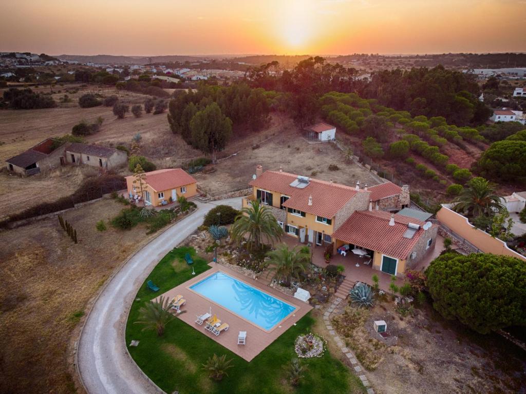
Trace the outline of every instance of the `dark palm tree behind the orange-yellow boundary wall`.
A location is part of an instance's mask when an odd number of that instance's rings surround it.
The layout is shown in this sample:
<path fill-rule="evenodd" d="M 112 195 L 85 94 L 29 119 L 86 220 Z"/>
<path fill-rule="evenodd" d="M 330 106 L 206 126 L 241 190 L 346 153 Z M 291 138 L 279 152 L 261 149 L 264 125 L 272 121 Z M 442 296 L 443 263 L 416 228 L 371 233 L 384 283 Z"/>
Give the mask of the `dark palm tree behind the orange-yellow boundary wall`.
<path fill-rule="evenodd" d="M 495 210 L 501 212 L 504 205 L 494 190 L 494 185 L 486 179 L 473 178 L 454 200 L 453 209 L 457 212 L 468 212 L 473 218 L 480 215 L 491 216 Z"/>

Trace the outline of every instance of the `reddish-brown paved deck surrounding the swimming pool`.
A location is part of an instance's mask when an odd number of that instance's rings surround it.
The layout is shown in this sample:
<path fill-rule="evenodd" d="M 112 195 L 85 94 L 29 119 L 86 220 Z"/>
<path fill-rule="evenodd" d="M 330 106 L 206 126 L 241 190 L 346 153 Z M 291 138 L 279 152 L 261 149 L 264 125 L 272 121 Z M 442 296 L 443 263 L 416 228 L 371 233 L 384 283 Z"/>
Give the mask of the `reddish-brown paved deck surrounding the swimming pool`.
<path fill-rule="evenodd" d="M 186 310 L 186 313 L 179 314 L 177 317 L 200 331 L 201 334 L 214 339 L 218 344 L 221 344 L 247 361 L 256 357 L 262 350 L 274 342 L 274 340 L 276 340 L 281 334 L 285 333 L 287 329 L 295 325 L 299 319 L 304 317 L 312 309 L 312 306 L 308 303 L 304 303 L 297 298 L 286 295 L 277 289 L 268 286 L 267 281 L 258 281 L 257 279 L 235 272 L 224 265 L 216 263 L 210 263 L 209 265 L 211 268 L 208 269 L 208 271 L 196 275 L 189 281 L 170 289 L 162 295 L 168 297 L 168 299 L 179 294 L 182 295 L 184 299 L 186 299 L 186 304 L 181 307 L 181 310 Z M 191 285 L 218 271 L 239 279 L 240 281 L 257 288 L 264 293 L 270 294 L 297 309 L 268 332 L 189 289 Z M 197 316 L 208 313 L 210 308 L 213 315 L 215 314 L 222 323 L 228 323 L 229 325 L 228 330 L 222 331 L 218 336 L 205 330 L 206 323 L 203 323 L 203 325 L 195 323 Z M 237 344 L 239 331 L 247 331 L 246 345 Z"/>

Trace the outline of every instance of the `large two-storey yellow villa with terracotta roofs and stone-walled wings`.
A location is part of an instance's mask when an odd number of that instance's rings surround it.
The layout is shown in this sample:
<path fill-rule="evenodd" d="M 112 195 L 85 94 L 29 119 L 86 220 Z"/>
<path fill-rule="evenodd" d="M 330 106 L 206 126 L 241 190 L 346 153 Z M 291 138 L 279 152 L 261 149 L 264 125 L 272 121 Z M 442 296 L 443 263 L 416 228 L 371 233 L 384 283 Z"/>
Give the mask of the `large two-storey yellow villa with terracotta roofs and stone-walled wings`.
<path fill-rule="evenodd" d="M 252 194 L 243 206 L 254 200 L 268 205 L 287 236 L 315 248 L 331 245 L 335 254 L 365 256 L 372 268 L 391 275 L 415 266 L 437 238 L 437 225 L 393 214 L 410 203 L 407 185 L 352 187 L 282 170 L 264 172 L 260 165 L 249 185 Z"/>

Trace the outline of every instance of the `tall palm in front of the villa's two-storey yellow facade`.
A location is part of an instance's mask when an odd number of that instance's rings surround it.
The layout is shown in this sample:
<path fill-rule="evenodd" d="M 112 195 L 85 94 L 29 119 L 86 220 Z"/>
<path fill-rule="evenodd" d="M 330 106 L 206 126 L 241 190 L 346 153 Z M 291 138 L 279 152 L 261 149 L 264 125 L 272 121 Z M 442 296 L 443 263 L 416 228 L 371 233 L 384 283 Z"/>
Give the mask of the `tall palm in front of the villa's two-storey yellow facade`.
<path fill-rule="evenodd" d="M 268 206 L 259 201 L 250 201 L 249 206 L 243 208 L 230 230 L 232 239 L 238 242 L 245 239 L 248 234 L 248 249 L 263 247 L 263 239 L 266 237 L 271 243 L 280 240 L 283 229 L 276 221 L 276 217 Z"/>

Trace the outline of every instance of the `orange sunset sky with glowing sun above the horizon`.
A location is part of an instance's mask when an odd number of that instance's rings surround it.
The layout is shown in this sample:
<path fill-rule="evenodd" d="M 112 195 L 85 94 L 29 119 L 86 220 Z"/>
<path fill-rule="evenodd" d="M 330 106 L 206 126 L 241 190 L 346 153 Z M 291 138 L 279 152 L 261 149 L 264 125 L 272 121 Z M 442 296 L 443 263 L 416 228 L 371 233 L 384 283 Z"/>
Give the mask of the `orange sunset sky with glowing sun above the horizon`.
<path fill-rule="evenodd" d="M 0 0 L 0 51 L 111 55 L 526 51 L 526 0 Z"/>

